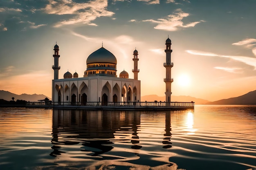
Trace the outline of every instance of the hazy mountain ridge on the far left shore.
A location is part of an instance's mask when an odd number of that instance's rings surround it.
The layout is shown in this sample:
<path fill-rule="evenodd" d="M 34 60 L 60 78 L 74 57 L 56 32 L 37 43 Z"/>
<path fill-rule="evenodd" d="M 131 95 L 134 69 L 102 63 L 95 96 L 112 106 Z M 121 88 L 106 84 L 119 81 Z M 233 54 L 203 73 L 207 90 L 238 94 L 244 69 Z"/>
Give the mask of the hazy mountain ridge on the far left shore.
<path fill-rule="evenodd" d="M 11 93 L 9 91 L 0 90 L 0 99 L 10 101 L 10 100 L 12 100 L 11 99 L 12 97 L 14 97 L 15 101 L 18 99 L 18 100 L 26 100 L 26 101 L 30 101 L 30 102 L 38 102 L 37 100 L 45 99 L 45 97 L 47 97 L 47 96 L 37 95 L 37 94 L 34 94 L 34 95 L 27 95 L 27 94 L 16 95 L 16 94 Z"/>

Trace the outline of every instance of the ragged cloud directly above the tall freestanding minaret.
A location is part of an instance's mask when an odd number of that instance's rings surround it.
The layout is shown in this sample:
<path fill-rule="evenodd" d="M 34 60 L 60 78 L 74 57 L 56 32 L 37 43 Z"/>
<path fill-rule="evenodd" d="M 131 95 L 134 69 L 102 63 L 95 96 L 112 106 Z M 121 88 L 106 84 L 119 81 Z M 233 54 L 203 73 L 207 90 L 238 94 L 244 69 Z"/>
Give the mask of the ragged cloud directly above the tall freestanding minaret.
<path fill-rule="evenodd" d="M 184 13 L 181 9 L 177 9 L 173 15 L 168 15 L 166 18 L 159 18 L 157 20 L 143 20 L 143 22 L 157 23 L 157 26 L 154 27 L 155 29 L 162 29 L 166 31 L 176 31 L 179 28 L 194 27 L 196 24 L 204 22 L 203 20 L 200 20 L 197 22 L 184 24 L 182 19 L 188 16 L 189 13 Z"/>

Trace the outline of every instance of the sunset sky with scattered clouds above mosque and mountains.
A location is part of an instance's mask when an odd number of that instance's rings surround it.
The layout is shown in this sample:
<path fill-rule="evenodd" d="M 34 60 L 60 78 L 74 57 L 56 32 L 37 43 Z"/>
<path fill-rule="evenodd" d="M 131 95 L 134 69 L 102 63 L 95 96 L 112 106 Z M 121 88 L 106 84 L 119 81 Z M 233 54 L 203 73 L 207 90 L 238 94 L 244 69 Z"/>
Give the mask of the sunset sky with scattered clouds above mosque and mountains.
<path fill-rule="evenodd" d="M 0 90 L 52 97 L 54 45 L 59 78 L 83 77 L 103 47 L 117 75 L 133 78 L 139 55 L 141 96 L 164 96 L 165 41 L 172 41 L 172 95 L 216 101 L 256 90 L 256 0 L 1 0 Z"/>

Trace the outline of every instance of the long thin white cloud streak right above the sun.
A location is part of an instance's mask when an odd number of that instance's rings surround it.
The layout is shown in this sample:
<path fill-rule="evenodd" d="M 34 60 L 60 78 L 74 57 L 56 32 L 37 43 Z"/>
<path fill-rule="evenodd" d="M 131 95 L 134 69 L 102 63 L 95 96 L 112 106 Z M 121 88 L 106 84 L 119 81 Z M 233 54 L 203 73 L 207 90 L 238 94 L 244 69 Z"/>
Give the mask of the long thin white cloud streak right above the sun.
<path fill-rule="evenodd" d="M 193 54 L 193 55 L 204 55 L 204 56 L 210 56 L 210 57 L 224 57 L 224 58 L 230 58 L 232 60 L 236 60 L 238 62 L 243 62 L 249 66 L 253 66 L 254 70 L 256 70 L 256 58 L 253 57 L 246 57 L 246 56 L 234 56 L 234 55 L 220 55 L 215 53 L 208 53 L 204 51 L 196 51 L 196 50 L 186 50 L 187 53 Z"/>

